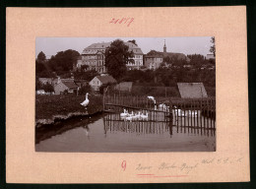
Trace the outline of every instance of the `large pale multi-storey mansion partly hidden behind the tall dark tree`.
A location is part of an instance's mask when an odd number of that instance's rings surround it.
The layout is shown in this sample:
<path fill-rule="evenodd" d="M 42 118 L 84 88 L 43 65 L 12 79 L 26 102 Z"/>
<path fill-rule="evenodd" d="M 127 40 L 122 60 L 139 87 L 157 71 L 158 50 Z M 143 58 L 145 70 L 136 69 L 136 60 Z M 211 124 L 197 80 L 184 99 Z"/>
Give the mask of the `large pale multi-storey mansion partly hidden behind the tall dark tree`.
<path fill-rule="evenodd" d="M 98 73 L 106 73 L 104 52 L 111 42 L 99 42 L 86 47 L 81 57 L 77 60 L 77 66 L 74 69 L 96 70 Z M 127 63 L 127 69 L 140 69 L 143 66 L 143 52 L 139 46 L 132 42 L 125 42 L 129 46 L 129 51 L 133 51 L 133 62 Z"/>

